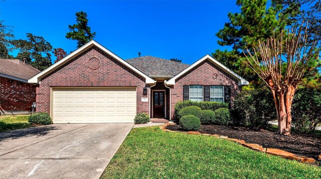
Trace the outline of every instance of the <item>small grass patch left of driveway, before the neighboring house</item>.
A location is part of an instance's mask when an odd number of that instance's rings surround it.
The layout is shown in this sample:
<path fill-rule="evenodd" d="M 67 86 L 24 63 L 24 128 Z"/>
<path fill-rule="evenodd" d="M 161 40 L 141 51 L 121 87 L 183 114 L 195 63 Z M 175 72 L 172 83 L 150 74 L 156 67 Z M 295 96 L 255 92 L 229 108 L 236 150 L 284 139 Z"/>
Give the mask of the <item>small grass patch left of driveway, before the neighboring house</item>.
<path fill-rule="evenodd" d="M 36 126 L 28 122 L 29 116 L 30 114 L 0 116 L 0 132 Z"/>

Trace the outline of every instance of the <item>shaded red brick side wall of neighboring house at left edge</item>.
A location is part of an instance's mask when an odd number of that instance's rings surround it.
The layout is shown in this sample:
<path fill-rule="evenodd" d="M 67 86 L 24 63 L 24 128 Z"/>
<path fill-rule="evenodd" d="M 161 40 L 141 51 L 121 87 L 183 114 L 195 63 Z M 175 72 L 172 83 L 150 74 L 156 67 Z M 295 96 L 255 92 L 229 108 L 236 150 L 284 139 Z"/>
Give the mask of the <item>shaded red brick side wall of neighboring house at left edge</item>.
<path fill-rule="evenodd" d="M 36 85 L 0 77 L 0 110 L 32 110 Z"/>

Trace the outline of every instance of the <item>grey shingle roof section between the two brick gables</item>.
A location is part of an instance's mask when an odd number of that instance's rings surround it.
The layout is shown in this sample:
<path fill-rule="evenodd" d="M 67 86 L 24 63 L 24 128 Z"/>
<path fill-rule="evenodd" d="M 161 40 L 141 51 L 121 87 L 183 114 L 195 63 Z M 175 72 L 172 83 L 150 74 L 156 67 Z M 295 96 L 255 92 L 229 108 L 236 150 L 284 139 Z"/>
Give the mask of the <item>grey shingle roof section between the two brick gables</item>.
<path fill-rule="evenodd" d="M 126 60 L 148 76 L 174 76 L 189 65 L 154 56 L 140 56 Z"/>

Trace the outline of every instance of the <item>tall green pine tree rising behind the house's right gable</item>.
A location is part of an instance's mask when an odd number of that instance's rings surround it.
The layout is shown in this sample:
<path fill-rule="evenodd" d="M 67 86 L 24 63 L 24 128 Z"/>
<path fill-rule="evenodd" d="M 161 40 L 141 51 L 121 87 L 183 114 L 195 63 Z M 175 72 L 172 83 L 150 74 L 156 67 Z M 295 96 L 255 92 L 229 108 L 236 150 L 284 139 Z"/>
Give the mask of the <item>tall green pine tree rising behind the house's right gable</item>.
<path fill-rule="evenodd" d="M 284 29 L 286 21 L 279 20 L 279 6 L 266 6 L 267 0 L 237 0 L 240 13 L 228 13 L 229 22 L 225 23 L 216 35 L 222 46 L 231 46 L 232 50 L 217 49 L 213 57 L 241 74 L 249 81 L 258 81 L 258 76 L 237 56 L 248 47 L 253 49 L 259 40 L 264 40 Z"/>

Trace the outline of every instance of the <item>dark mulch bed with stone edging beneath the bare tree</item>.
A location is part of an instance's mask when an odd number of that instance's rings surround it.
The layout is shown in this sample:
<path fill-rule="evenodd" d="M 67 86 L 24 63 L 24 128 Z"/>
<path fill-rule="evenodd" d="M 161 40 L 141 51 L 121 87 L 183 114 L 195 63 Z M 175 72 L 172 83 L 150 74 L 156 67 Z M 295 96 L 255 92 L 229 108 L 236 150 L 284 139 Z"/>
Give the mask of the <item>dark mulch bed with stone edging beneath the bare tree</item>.
<path fill-rule="evenodd" d="M 181 125 L 168 125 L 170 130 L 182 130 Z M 312 157 L 317 160 L 321 153 L 321 136 L 292 133 L 291 136 L 280 135 L 269 130 L 251 130 L 245 127 L 224 125 L 201 125 L 201 133 L 225 135 L 230 138 L 245 140 L 246 143 L 257 143 L 263 147 L 278 148 L 297 155 Z"/>

